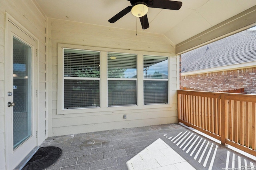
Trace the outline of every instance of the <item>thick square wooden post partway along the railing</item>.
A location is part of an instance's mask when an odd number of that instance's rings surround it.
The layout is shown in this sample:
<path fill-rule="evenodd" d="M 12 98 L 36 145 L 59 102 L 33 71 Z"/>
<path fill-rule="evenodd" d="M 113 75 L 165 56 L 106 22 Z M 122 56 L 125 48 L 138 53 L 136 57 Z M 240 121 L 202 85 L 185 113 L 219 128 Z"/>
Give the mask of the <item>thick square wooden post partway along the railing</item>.
<path fill-rule="evenodd" d="M 226 108 L 227 108 L 227 101 L 225 100 L 225 95 L 221 94 L 220 95 L 220 128 L 221 128 L 221 133 L 220 133 L 220 139 L 221 139 L 221 144 L 222 145 L 227 145 L 226 144 L 226 133 L 227 133 L 227 122 L 226 122 Z"/>

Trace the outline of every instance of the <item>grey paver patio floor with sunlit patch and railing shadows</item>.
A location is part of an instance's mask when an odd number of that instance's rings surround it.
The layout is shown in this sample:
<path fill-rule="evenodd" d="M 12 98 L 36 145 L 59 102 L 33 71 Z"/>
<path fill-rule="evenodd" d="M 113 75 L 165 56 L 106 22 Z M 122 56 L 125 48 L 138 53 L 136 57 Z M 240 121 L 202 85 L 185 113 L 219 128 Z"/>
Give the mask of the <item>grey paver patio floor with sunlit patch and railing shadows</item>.
<path fill-rule="evenodd" d="M 180 124 L 48 137 L 62 156 L 48 170 L 256 170 L 246 157 Z"/>

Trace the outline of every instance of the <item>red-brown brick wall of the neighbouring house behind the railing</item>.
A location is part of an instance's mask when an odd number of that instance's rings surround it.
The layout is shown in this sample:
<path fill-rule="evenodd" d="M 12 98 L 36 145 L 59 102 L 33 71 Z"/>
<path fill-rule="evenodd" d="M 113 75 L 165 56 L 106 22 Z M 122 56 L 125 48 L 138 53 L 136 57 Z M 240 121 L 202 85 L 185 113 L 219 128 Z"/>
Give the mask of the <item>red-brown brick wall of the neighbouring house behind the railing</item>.
<path fill-rule="evenodd" d="M 256 94 L 256 67 L 182 76 L 181 85 L 210 92 L 244 88 Z"/>

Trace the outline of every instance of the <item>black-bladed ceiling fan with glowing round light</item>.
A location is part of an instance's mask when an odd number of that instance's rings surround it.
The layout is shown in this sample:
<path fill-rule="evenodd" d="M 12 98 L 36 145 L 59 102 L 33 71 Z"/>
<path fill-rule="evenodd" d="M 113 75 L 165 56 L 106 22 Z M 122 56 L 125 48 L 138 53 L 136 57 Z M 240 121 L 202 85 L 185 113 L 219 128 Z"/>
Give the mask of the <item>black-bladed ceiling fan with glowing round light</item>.
<path fill-rule="evenodd" d="M 148 7 L 150 8 L 162 8 L 167 10 L 179 10 L 182 6 L 182 2 L 172 1 L 172 0 L 128 0 L 132 6 L 127 6 L 118 14 L 108 20 L 110 23 L 114 23 L 129 12 L 136 17 L 140 18 L 140 23 L 142 29 L 147 29 L 149 27 L 148 23 Z"/>

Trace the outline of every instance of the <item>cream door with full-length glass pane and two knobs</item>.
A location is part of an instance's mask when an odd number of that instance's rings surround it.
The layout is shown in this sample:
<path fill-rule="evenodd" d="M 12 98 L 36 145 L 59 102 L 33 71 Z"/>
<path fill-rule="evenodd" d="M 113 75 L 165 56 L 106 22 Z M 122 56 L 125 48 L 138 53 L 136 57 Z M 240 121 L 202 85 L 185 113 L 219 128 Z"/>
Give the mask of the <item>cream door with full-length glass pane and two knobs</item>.
<path fill-rule="evenodd" d="M 36 41 L 10 21 L 6 29 L 6 157 L 14 169 L 37 145 Z"/>

